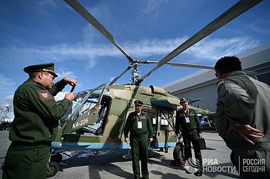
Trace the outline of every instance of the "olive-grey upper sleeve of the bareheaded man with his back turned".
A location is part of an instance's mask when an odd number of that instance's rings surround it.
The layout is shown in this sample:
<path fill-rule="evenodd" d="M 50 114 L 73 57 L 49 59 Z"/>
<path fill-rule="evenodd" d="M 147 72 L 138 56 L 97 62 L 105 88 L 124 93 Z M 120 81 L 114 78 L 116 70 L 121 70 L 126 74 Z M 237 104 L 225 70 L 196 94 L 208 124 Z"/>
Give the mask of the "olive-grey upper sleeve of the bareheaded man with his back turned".
<path fill-rule="evenodd" d="M 225 81 L 218 92 L 218 100 L 224 105 L 226 118 L 233 123 L 250 124 L 254 114 L 255 101 L 247 91 L 233 81 Z"/>

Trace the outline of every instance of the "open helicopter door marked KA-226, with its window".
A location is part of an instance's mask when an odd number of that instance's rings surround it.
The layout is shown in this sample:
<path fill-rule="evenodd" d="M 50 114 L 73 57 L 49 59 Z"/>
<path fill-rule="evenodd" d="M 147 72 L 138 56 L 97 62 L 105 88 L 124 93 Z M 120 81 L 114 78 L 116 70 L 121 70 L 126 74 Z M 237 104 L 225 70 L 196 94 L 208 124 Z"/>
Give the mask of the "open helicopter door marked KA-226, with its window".
<path fill-rule="evenodd" d="M 63 135 L 97 122 L 100 102 L 107 87 L 104 83 L 92 89 L 83 99 L 81 105 L 74 111 L 63 131 Z"/>

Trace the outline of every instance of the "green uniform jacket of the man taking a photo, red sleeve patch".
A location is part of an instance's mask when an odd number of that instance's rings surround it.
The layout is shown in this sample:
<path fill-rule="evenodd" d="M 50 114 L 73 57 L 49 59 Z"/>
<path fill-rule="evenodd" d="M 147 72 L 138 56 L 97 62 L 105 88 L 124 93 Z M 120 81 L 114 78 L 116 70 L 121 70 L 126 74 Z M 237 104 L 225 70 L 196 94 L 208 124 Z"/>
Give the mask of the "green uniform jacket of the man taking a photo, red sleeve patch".
<path fill-rule="evenodd" d="M 53 96 L 67 83 L 64 79 L 46 90 L 41 83 L 28 79 L 20 85 L 13 98 L 14 115 L 9 139 L 14 142 L 50 142 L 57 134 L 58 120 L 66 113 L 70 101 L 56 103 Z"/>

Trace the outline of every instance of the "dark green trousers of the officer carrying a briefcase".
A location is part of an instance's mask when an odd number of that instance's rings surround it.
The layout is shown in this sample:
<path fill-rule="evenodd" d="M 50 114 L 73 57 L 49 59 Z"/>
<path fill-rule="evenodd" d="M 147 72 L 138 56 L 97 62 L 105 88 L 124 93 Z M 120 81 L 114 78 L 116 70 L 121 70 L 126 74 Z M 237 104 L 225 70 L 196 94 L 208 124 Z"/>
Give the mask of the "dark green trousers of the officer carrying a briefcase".
<path fill-rule="evenodd" d="M 200 144 L 198 140 L 198 131 L 197 129 L 189 130 L 189 131 L 182 131 L 183 142 L 185 145 L 185 158 L 189 159 L 192 158 L 191 153 L 191 143 L 194 149 L 195 158 L 199 161 L 198 167 L 200 171 L 203 171 L 202 168 L 202 154 L 200 149 Z"/>

